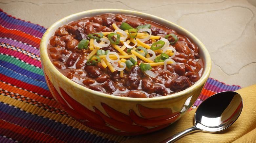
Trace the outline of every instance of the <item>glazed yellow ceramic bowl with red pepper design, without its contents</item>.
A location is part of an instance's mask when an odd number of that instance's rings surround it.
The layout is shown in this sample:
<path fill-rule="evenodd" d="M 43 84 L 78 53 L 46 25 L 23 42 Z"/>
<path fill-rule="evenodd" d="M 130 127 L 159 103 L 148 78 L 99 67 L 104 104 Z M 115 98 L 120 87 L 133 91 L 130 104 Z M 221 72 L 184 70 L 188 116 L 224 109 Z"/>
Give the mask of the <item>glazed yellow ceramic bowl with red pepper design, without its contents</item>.
<path fill-rule="evenodd" d="M 51 63 L 47 44 L 53 32 L 63 24 L 104 13 L 130 14 L 152 20 L 177 31 L 195 43 L 204 60 L 201 79 L 179 93 L 156 98 L 128 98 L 100 93 L 76 84 Z M 211 59 L 203 43 L 182 27 L 157 16 L 122 9 L 94 9 L 67 16 L 54 23 L 43 35 L 40 57 L 48 87 L 65 112 L 82 124 L 104 133 L 140 135 L 169 126 L 188 111 L 199 97 L 211 70 Z"/>

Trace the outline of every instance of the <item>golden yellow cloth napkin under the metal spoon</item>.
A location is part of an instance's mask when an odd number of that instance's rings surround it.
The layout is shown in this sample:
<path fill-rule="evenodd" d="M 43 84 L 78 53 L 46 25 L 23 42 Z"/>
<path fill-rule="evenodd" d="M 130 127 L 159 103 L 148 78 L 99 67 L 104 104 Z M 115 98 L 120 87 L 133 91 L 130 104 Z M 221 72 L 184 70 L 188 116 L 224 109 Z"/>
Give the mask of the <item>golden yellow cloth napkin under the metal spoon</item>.
<path fill-rule="evenodd" d="M 194 132 L 183 136 L 175 143 L 256 143 L 256 84 L 237 90 L 243 98 L 239 118 L 226 130 L 217 133 Z M 176 133 L 194 126 L 196 109 L 187 112 L 181 119 L 155 133 L 137 136 L 122 143 L 158 143 Z"/>

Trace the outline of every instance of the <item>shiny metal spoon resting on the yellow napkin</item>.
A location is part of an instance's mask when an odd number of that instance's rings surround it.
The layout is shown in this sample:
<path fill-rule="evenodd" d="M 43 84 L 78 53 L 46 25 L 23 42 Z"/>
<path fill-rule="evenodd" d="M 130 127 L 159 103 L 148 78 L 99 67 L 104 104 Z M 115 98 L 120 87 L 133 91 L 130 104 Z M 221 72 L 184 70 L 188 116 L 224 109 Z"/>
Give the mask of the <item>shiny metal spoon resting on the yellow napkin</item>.
<path fill-rule="evenodd" d="M 160 143 L 171 143 L 192 132 L 219 132 L 232 125 L 241 114 L 242 97 L 234 91 L 216 93 L 204 100 L 195 113 L 195 125 Z"/>

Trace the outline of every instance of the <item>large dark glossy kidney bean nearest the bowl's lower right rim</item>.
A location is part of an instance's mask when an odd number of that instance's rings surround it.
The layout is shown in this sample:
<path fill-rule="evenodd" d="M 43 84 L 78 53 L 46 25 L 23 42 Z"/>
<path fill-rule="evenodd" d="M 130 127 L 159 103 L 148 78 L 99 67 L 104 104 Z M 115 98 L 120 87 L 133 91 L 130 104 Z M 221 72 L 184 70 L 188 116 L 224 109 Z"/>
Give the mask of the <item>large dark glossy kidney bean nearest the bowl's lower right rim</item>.
<path fill-rule="evenodd" d="M 189 78 L 186 76 L 176 77 L 172 82 L 172 88 L 174 91 L 178 92 L 182 89 L 188 88 L 191 86 Z"/>

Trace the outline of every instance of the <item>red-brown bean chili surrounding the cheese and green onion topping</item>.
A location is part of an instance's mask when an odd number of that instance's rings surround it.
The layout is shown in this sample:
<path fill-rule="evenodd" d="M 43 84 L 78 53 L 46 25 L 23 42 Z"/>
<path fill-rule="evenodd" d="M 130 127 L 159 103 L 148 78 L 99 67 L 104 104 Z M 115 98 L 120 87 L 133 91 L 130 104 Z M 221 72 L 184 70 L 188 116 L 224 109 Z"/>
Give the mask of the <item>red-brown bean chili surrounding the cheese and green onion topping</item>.
<path fill-rule="evenodd" d="M 88 60 L 86 56 L 92 50 L 78 49 L 78 43 L 82 39 L 90 40 L 89 34 L 114 32 L 113 24 L 120 27 L 122 23 L 127 23 L 133 28 L 151 24 L 152 36 L 160 36 L 160 38 L 175 34 L 179 40 L 170 46 L 176 50 L 176 55 L 172 58 L 176 64 L 167 64 L 166 71 L 163 65 L 152 66 L 151 71 L 157 74 L 156 78 L 146 75 L 137 66 L 144 62 L 138 57 L 137 65 L 128 71 L 123 70 L 122 77 L 120 77 L 120 71 L 112 72 L 108 67 L 103 67 L 101 62 L 94 65 L 86 64 Z M 173 38 L 168 40 L 174 41 Z M 152 42 L 153 40 L 147 40 L 144 43 L 152 45 Z M 121 47 L 122 44 L 118 46 Z M 117 49 L 111 45 L 100 49 L 118 53 Z M 127 49 L 124 51 L 127 52 Z M 194 43 L 172 29 L 136 16 L 121 14 L 86 17 L 63 25 L 55 31 L 48 44 L 50 60 L 69 79 L 98 92 L 137 98 L 166 96 L 192 86 L 203 73 L 203 59 L 199 56 L 199 52 Z M 120 67 L 120 64 L 115 64 Z"/>

